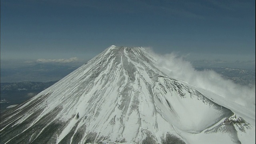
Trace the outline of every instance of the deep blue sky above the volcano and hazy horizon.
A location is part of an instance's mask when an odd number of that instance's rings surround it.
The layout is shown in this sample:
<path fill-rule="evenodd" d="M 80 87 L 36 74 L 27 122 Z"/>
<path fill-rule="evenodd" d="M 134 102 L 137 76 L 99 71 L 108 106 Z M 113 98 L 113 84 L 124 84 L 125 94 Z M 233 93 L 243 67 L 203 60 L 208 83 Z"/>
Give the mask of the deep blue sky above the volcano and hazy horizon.
<path fill-rule="evenodd" d="M 255 0 L 1 0 L 1 63 L 88 60 L 112 44 L 255 64 Z"/>

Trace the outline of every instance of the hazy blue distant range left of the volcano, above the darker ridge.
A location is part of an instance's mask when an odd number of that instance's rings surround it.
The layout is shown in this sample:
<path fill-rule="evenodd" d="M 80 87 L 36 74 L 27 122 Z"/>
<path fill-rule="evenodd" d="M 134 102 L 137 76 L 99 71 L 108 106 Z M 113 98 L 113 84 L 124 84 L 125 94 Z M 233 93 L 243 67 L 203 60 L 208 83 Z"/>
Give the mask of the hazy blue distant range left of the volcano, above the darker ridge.
<path fill-rule="evenodd" d="M 79 66 L 33 64 L 17 68 L 1 68 L 1 82 L 51 82 L 62 79 Z"/>

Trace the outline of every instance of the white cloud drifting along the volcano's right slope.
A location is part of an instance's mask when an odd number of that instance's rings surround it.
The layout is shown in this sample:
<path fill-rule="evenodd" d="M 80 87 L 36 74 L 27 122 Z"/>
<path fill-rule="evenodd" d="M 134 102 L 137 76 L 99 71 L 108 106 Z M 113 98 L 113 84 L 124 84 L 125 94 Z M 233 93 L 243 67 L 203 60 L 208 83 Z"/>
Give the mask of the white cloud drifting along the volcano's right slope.
<path fill-rule="evenodd" d="M 188 82 L 198 88 L 210 90 L 220 96 L 236 102 L 242 106 L 255 110 L 255 84 L 254 86 L 242 86 L 232 80 L 222 78 L 213 70 L 198 71 L 192 64 L 177 54 L 156 54 L 148 49 L 156 60 L 159 67 L 170 77 Z"/>

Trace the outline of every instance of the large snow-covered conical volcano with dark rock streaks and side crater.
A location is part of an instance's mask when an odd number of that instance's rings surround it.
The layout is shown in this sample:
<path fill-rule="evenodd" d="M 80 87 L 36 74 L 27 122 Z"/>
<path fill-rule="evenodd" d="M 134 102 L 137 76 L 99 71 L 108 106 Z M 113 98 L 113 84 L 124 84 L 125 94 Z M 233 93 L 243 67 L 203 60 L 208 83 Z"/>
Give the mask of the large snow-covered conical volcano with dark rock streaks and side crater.
<path fill-rule="evenodd" d="M 255 114 L 170 78 L 142 47 L 110 46 L 1 116 L 1 144 L 250 144 Z"/>

